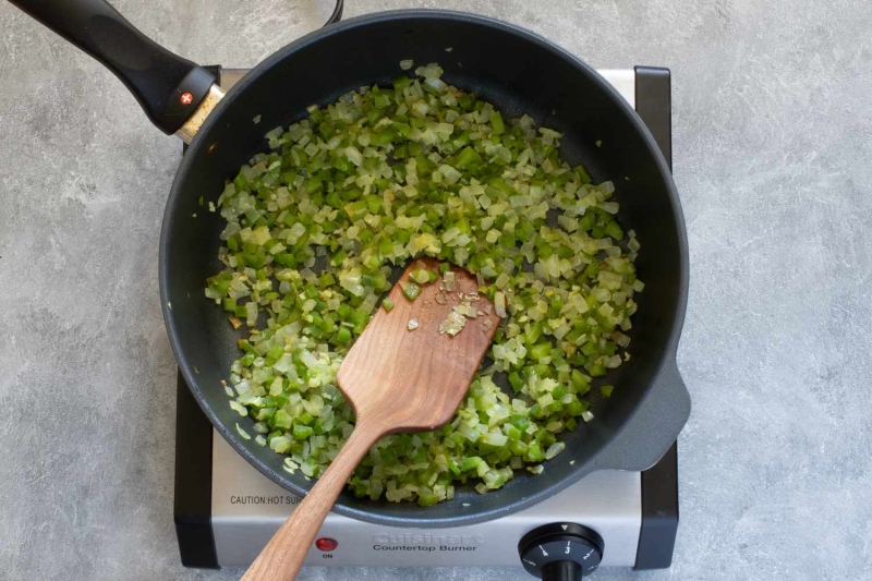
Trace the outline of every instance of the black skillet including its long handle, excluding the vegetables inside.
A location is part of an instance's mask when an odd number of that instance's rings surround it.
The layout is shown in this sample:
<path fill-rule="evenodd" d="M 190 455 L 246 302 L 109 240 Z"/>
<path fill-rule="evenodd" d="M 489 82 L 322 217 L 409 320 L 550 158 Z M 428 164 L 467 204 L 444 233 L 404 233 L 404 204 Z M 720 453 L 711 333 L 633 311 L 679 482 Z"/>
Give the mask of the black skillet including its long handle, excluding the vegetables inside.
<path fill-rule="evenodd" d="M 283 457 L 235 433 L 241 419 L 228 407 L 220 382 L 239 356 L 239 334 L 203 295 L 204 281 L 221 267 L 217 250 L 222 223 L 219 215 L 198 211 L 197 199 L 217 199 L 225 180 L 265 149 L 267 130 L 303 118 L 308 105 L 331 102 L 363 85 L 388 83 L 402 59 L 438 62 L 449 83 L 494 102 L 504 117 L 526 112 L 565 133 L 570 161 L 583 161 L 597 180 L 616 182 L 619 219 L 642 243 L 637 266 L 646 287 L 638 298 L 630 332 L 632 360 L 609 375 L 618 386 L 615 396 L 594 403 L 595 421 L 567 435 L 566 451 L 541 475 L 519 474 L 485 495 L 461 489 L 453 500 L 428 508 L 360 500 L 343 493 L 335 510 L 390 525 L 471 524 L 529 507 L 594 470 L 647 469 L 675 441 L 690 413 L 675 362 L 688 288 L 678 195 L 642 121 L 577 58 L 545 38 L 483 16 L 435 10 L 382 12 L 331 24 L 291 43 L 220 98 L 206 71 L 154 44 L 102 0 L 12 3 L 108 66 L 166 133 L 193 137 L 164 218 L 164 317 L 179 366 L 203 411 L 237 451 L 275 482 L 296 494 L 312 485 L 301 474 L 282 470 Z M 191 121 L 195 110 L 198 114 Z M 259 124 L 253 123 L 255 116 Z M 241 425 L 251 428 L 247 423 L 242 419 Z"/>

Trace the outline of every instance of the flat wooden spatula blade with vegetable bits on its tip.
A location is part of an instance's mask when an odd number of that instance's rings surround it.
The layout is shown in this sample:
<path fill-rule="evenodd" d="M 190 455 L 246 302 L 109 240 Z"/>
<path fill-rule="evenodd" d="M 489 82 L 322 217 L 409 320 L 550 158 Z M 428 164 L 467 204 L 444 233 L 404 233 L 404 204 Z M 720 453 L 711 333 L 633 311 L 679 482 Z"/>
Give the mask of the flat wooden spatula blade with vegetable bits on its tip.
<path fill-rule="evenodd" d="M 393 308 L 378 308 L 337 375 L 358 422 L 363 416 L 391 432 L 433 429 L 448 422 L 499 324 L 493 303 L 477 295 L 475 277 L 462 268 L 451 267 L 453 290 L 446 290 L 440 275 L 436 282 L 421 285 L 417 299 L 407 299 L 402 286 L 413 282 L 410 275 L 421 266 L 439 273 L 436 261 L 414 261 L 388 294 Z M 463 317 L 465 324 L 455 336 L 440 332 L 459 305 L 473 310 L 474 318 Z M 410 322 L 416 323 L 414 330 Z"/>

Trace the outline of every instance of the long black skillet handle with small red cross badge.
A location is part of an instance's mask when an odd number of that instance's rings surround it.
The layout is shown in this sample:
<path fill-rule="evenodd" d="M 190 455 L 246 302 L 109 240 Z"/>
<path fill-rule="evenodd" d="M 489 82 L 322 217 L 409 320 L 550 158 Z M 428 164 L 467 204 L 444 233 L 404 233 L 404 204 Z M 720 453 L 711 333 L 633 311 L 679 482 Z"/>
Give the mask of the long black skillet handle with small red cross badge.
<path fill-rule="evenodd" d="M 105 0 L 10 0 L 118 76 L 152 122 L 175 133 L 215 78 L 137 31 Z"/>

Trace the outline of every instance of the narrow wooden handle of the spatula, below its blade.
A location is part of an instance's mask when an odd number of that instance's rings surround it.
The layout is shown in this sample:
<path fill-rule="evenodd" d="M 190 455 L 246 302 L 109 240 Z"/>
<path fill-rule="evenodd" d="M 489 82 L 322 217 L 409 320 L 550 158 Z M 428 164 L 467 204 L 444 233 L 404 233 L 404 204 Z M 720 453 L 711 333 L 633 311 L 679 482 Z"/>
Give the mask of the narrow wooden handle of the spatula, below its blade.
<path fill-rule="evenodd" d="M 242 581 L 293 581 L 296 578 L 337 496 L 382 436 L 382 432 L 358 423 L 330 467 L 249 567 Z"/>

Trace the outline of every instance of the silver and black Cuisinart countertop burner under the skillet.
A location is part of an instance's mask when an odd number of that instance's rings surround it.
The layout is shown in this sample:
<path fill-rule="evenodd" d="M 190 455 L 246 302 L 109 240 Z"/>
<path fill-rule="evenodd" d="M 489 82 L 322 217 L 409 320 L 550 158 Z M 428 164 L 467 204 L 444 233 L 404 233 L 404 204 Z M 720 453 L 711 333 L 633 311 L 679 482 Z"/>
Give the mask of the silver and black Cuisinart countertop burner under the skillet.
<path fill-rule="evenodd" d="M 246 72 L 209 69 L 225 89 Z M 669 71 L 600 73 L 635 108 L 671 165 Z M 247 567 L 300 500 L 217 435 L 181 374 L 177 398 L 174 518 L 182 564 Z M 644 472 L 594 472 L 526 510 L 470 526 L 401 529 L 330 513 L 305 566 L 517 566 L 541 574 L 548 567 L 543 554 L 560 550 L 578 557 L 585 576 L 597 567 L 662 569 L 671 564 L 677 529 L 673 445 Z"/>

